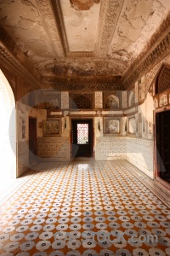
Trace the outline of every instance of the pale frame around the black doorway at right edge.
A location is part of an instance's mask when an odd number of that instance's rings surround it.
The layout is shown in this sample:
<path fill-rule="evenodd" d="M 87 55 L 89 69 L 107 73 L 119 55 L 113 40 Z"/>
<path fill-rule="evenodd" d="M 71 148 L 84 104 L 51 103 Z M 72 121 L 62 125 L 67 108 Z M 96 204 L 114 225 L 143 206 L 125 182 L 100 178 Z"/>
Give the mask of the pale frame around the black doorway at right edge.
<path fill-rule="evenodd" d="M 163 112 L 166 112 L 166 111 L 170 111 L 170 106 L 168 107 L 162 107 L 162 108 L 159 108 L 159 109 L 156 109 L 154 111 L 154 124 L 155 124 L 155 129 L 154 129 L 154 133 L 155 133 L 155 136 L 154 136 L 154 168 L 155 168 L 155 173 L 154 173 L 154 176 L 155 176 L 155 179 L 158 183 L 161 183 L 164 187 L 166 187 L 167 189 L 170 189 L 170 183 L 168 183 L 165 179 L 163 179 L 162 177 L 160 177 L 160 172 L 159 172 L 159 161 L 157 160 L 157 148 L 156 148 L 156 139 L 157 139 L 157 136 L 156 136 L 156 113 L 163 113 Z"/>

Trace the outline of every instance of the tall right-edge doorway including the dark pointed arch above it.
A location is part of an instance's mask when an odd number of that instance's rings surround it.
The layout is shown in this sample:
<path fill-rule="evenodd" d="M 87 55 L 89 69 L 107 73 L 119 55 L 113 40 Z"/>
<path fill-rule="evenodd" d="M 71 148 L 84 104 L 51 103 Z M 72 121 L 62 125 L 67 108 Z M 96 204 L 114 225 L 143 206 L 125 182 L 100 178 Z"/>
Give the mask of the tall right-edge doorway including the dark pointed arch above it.
<path fill-rule="evenodd" d="M 170 188 L 170 65 L 163 63 L 153 81 L 156 180 Z"/>

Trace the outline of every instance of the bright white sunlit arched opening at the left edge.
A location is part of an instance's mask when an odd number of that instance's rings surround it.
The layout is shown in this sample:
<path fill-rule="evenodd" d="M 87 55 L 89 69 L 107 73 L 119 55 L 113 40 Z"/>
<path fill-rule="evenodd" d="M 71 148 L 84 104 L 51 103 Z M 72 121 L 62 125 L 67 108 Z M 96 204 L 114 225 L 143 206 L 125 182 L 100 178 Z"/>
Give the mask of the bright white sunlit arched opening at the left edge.
<path fill-rule="evenodd" d="M 0 187 L 16 177 L 16 121 L 13 90 L 0 70 Z"/>

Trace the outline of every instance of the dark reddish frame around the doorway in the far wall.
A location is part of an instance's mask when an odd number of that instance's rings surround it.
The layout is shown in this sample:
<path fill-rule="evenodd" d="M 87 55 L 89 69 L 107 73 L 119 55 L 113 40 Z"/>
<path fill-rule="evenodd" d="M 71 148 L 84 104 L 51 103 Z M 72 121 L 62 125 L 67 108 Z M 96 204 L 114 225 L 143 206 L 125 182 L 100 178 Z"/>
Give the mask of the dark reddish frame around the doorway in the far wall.
<path fill-rule="evenodd" d="M 91 145 L 91 148 L 92 148 L 92 155 L 91 155 L 91 157 L 94 157 L 94 118 L 93 117 L 71 117 L 71 132 L 70 132 L 70 148 L 71 148 L 71 157 L 72 157 L 72 121 L 73 120 L 81 120 L 81 121 L 86 121 L 86 120 L 91 120 L 92 121 L 92 140 L 91 140 L 91 143 L 92 143 L 92 145 Z"/>

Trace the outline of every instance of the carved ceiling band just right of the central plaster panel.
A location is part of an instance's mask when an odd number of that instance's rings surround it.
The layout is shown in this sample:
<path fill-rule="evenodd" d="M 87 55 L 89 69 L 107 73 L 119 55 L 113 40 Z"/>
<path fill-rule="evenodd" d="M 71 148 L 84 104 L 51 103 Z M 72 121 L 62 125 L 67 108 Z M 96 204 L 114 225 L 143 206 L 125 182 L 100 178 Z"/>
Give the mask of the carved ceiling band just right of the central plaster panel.
<path fill-rule="evenodd" d="M 122 0 L 105 1 L 101 2 L 101 12 L 99 19 L 99 38 L 96 55 L 99 58 L 105 58 L 107 55 L 113 34 L 115 32 L 116 23 L 119 15 L 117 13 L 122 9 Z"/>

